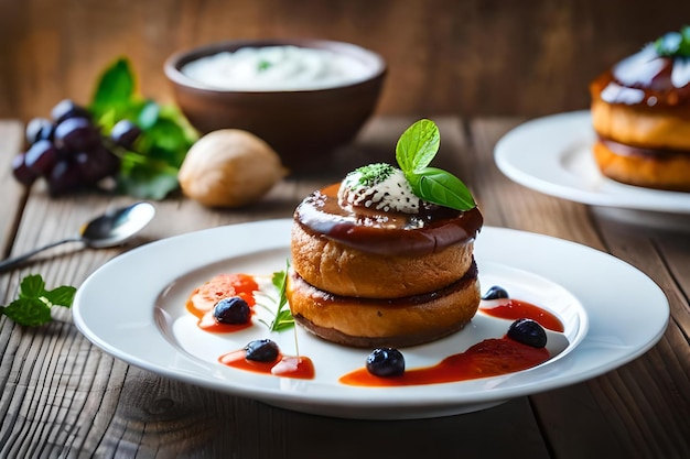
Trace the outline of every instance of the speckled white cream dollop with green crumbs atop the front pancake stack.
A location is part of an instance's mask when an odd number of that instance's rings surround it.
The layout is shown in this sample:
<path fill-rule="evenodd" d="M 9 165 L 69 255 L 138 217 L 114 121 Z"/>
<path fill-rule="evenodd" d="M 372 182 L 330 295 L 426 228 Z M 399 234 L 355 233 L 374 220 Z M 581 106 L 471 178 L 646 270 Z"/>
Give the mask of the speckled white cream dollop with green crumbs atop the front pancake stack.
<path fill-rule="evenodd" d="M 347 174 L 337 193 L 343 208 L 364 207 L 385 212 L 418 214 L 421 199 L 405 174 L 388 164 L 371 164 Z"/>

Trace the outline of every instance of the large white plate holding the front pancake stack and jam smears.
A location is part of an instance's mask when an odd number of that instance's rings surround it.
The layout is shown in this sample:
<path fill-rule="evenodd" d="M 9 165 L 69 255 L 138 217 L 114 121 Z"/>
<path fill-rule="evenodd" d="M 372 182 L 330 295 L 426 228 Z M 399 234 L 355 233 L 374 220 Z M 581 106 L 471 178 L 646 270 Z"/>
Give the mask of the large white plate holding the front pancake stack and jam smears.
<path fill-rule="evenodd" d="M 268 335 L 263 325 L 225 336 L 200 330 L 184 308 L 192 288 L 223 272 L 270 275 L 284 269 L 291 220 L 219 227 L 143 245 L 120 255 L 78 288 L 79 330 L 106 352 L 168 378 L 294 411 L 351 418 L 418 418 L 473 412 L 511 397 L 573 384 L 649 349 L 668 321 L 667 299 L 636 269 L 605 253 L 558 239 L 484 228 L 476 241 L 483 291 L 502 285 L 511 297 L 557 314 L 570 346 L 530 370 L 457 383 L 354 387 L 338 376 L 364 367 L 368 350 L 347 349 L 298 329 L 300 353 L 314 380 L 235 370 L 219 354 L 271 338 L 294 351 L 294 331 Z M 453 337 L 403 349 L 407 368 L 438 363 L 509 321 L 477 315 Z"/>

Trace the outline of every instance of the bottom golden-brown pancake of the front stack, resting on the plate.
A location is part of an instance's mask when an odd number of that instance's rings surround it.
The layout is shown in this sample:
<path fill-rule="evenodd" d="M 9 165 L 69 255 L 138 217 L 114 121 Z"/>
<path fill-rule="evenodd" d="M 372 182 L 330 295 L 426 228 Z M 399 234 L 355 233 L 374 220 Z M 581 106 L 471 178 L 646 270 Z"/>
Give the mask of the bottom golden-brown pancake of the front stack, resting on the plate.
<path fill-rule="evenodd" d="M 395 299 L 332 295 L 300 277 L 288 276 L 287 291 L 295 321 L 339 345 L 373 348 L 430 342 L 461 330 L 479 306 L 477 269 L 436 292 Z"/>

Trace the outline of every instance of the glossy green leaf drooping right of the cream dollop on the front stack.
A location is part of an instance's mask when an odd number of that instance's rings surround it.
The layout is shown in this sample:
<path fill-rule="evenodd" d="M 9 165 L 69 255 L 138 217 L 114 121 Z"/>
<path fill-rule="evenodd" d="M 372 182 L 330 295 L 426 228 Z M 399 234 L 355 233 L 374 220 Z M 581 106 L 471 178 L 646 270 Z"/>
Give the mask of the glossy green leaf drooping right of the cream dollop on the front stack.
<path fill-rule="evenodd" d="M 470 210 L 476 206 L 472 193 L 460 178 L 436 167 L 422 170 L 410 186 L 416 195 L 429 203 L 456 210 Z"/>

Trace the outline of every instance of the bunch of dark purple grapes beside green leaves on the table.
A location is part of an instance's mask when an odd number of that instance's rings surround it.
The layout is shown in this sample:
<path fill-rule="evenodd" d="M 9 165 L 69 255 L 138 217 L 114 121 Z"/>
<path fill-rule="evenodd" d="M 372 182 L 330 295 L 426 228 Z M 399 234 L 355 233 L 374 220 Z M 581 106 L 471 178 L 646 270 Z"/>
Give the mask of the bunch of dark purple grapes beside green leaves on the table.
<path fill-rule="evenodd" d="M 29 186 L 43 177 L 56 196 L 99 184 L 120 170 L 118 147 L 131 150 L 141 130 L 121 120 L 106 136 L 85 107 L 65 99 L 51 119 L 34 118 L 26 124 L 29 149 L 12 163 L 14 177 Z"/>

